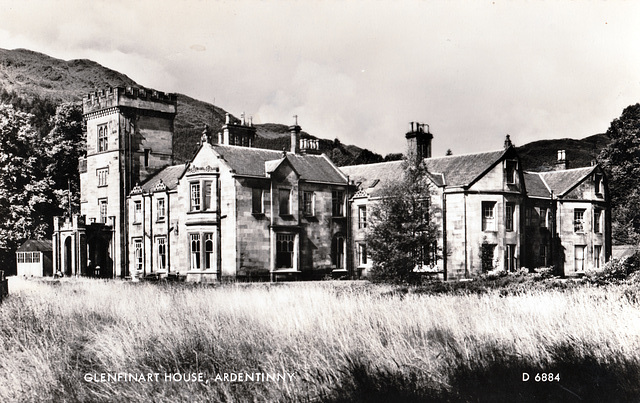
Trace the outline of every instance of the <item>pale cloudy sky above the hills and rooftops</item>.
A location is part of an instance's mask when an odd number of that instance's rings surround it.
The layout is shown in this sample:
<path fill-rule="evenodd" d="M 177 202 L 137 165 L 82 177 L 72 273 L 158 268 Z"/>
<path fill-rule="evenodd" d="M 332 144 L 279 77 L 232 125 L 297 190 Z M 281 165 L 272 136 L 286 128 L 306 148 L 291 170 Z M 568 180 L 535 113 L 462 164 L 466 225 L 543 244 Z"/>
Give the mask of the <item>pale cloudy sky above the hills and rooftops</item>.
<path fill-rule="evenodd" d="M 639 1 L 9 1 L 0 48 L 380 154 L 603 133 L 640 102 Z"/>

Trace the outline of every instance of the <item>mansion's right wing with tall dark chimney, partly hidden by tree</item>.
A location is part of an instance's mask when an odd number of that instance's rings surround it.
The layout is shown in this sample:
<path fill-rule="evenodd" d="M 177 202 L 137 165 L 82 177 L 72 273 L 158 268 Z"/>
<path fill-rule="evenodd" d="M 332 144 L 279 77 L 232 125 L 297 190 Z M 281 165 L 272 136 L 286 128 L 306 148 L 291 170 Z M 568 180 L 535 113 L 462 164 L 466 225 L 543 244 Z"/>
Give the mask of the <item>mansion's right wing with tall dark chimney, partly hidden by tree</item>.
<path fill-rule="evenodd" d="M 433 136 L 412 124 L 409 153 L 423 158 L 432 179 L 433 217 L 439 228 L 430 272 L 447 280 L 491 270 L 554 266 L 559 274 L 580 275 L 611 256 L 610 205 L 599 166 L 525 172 L 509 139 L 495 152 L 430 158 Z M 422 129 L 422 130 L 420 130 Z M 403 175 L 401 162 L 342 167 L 358 184 L 351 198 L 352 264 L 368 274 L 359 217 L 380 201 L 380 189 Z"/>

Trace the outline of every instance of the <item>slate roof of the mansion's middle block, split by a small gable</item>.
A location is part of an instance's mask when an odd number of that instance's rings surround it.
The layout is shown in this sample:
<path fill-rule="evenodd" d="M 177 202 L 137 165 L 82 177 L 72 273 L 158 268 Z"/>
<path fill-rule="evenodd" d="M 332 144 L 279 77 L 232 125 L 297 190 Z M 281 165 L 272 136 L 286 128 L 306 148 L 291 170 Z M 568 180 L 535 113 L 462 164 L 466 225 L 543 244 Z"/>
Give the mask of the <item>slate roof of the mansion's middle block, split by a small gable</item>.
<path fill-rule="evenodd" d="M 213 145 L 213 149 L 224 161 L 241 176 L 266 176 L 265 162 L 281 161 L 283 152 L 262 148 L 249 148 L 226 145 Z M 312 154 L 286 153 L 293 169 L 300 174 L 300 179 L 323 183 L 346 183 L 346 178 L 324 156 Z M 274 165 L 269 164 L 269 167 Z"/>

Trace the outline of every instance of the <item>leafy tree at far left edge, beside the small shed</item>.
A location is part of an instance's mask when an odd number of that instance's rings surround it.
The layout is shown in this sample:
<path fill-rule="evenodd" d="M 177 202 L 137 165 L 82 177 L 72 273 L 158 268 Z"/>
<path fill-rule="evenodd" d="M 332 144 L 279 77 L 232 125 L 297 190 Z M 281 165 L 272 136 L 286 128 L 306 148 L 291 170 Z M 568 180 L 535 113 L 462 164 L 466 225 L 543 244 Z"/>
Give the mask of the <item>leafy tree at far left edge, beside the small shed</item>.
<path fill-rule="evenodd" d="M 12 267 L 18 244 L 45 235 L 52 180 L 41 169 L 33 116 L 0 105 L 0 265 Z"/>

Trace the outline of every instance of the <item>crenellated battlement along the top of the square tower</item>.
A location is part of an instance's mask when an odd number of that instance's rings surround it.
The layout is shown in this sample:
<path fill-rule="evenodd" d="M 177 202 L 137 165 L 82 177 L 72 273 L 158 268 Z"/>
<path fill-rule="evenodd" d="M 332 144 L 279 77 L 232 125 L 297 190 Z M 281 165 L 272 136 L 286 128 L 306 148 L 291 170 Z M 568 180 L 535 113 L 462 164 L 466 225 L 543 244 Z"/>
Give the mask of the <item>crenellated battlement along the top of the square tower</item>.
<path fill-rule="evenodd" d="M 175 114 L 177 105 L 176 94 L 143 87 L 110 87 L 82 97 L 82 111 L 85 115 L 118 106 Z"/>

